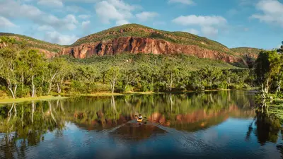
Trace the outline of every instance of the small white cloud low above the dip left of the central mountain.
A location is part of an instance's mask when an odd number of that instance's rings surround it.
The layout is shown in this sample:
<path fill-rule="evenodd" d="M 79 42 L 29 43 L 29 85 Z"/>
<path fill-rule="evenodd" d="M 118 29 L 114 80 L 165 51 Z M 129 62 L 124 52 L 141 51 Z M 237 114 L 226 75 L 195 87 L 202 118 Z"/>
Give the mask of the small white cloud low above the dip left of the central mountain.
<path fill-rule="evenodd" d="M 62 35 L 56 31 L 45 33 L 45 40 L 47 42 L 57 43 L 59 45 L 71 45 L 78 39 L 79 37 L 76 37 L 76 35 Z"/>

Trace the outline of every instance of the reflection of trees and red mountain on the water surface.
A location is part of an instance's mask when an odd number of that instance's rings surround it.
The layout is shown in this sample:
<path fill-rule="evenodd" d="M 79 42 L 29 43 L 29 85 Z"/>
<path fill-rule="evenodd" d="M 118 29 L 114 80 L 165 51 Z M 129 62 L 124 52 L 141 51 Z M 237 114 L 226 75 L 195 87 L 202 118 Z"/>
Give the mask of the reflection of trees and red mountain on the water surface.
<path fill-rule="evenodd" d="M 192 141 L 188 138 L 190 133 L 206 131 L 227 119 L 250 119 L 244 128 L 246 142 L 255 134 L 262 146 L 267 142 L 277 143 L 281 124 L 255 113 L 253 101 L 253 93 L 222 91 L 83 97 L 6 105 L 0 107 L 0 158 L 28 158 L 27 150 L 44 142 L 46 134 L 54 134 L 55 139 L 64 138 L 65 130 L 71 129 L 68 123 L 79 131 L 134 144 L 154 136 L 168 136 L 169 132 L 174 132 L 171 137 L 181 134 L 185 140 Z M 135 122 L 134 115 L 139 113 L 147 118 L 147 124 Z M 282 150 L 282 145 L 277 147 Z"/>

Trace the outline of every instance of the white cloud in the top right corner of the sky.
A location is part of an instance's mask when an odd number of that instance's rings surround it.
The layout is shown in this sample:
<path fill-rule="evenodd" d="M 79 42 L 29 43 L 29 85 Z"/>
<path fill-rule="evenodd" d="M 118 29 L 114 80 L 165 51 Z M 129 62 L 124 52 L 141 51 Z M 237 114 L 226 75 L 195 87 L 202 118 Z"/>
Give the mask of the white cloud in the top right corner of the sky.
<path fill-rule="evenodd" d="M 251 18 L 260 22 L 277 24 L 283 28 L 283 4 L 277 0 L 262 0 L 255 6 L 262 14 L 253 14 Z"/>

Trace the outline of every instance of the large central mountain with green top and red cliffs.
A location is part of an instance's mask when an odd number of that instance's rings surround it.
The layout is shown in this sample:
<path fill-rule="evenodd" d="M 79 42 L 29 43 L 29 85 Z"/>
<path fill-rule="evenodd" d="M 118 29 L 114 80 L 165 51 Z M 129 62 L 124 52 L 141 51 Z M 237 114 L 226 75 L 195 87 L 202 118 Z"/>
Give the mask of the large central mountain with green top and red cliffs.
<path fill-rule="evenodd" d="M 220 59 L 229 63 L 246 64 L 246 61 L 228 47 L 185 32 L 156 30 L 143 25 L 121 25 L 82 37 L 60 52 L 76 58 L 94 54 L 112 55 L 122 52 L 153 54 L 189 54 L 200 58 Z"/>

